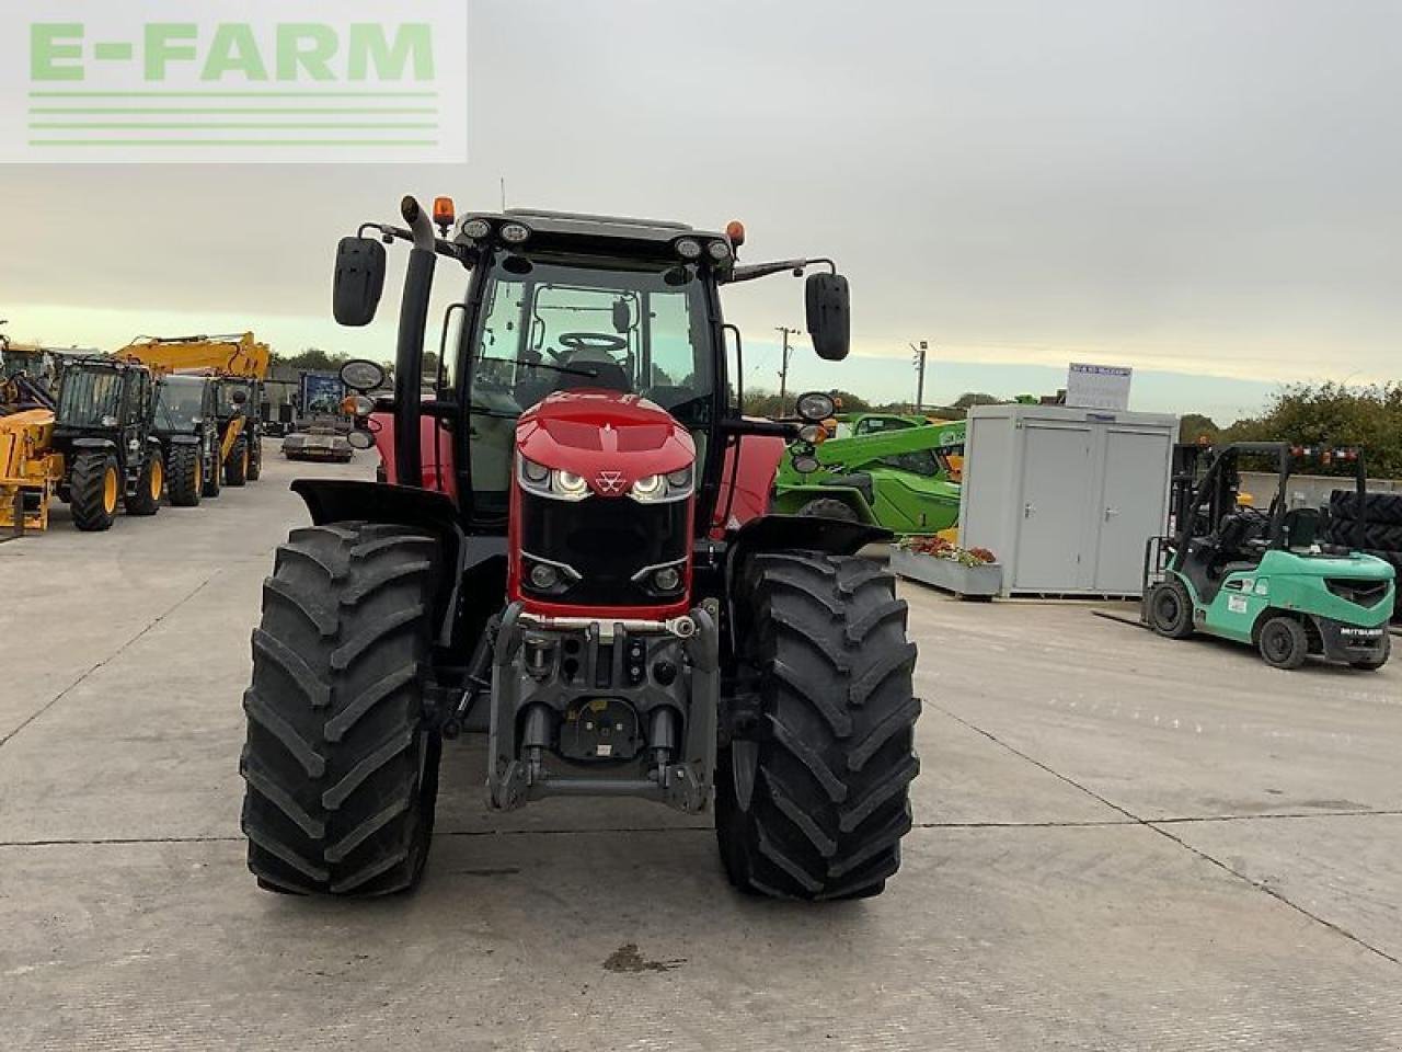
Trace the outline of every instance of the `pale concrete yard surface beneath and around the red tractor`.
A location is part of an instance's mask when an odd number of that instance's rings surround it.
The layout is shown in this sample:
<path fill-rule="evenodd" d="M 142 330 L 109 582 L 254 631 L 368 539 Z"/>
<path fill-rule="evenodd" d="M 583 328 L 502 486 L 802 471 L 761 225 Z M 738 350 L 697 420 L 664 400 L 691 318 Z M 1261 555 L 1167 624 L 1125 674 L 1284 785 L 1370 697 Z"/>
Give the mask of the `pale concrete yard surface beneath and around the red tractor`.
<path fill-rule="evenodd" d="M 709 818 L 482 804 L 423 886 L 259 891 L 240 697 L 299 474 L 0 544 L 0 1048 L 1402 1049 L 1402 663 L 1266 668 L 903 586 L 925 701 L 885 895 L 743 898 Z M 1127 609 L 1127 607 L 1126 607 Z"/>

